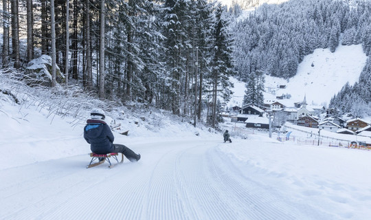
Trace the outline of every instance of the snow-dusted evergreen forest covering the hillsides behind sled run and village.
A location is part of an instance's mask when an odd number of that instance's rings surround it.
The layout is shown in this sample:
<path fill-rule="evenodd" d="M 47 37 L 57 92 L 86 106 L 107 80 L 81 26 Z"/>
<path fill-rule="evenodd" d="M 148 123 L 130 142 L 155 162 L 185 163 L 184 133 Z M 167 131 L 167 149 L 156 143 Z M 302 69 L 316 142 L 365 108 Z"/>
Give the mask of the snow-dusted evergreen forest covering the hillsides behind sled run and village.
<path fill-rule="evenodd" d="M 317 48 L 362 44 L 371 54 L 371 1 L 291 0 L 249 11 L 207 0 L 0 5 L 3 72 L 23 73 L 45 54 L 52 88 L 82 87 L 100 99 L 142 103 L 214 127 L 232 94 L 229 76 L 246 83 L 245 103 L 260 105 L 264 76 L 295 76 Z M 344 85 L 330 107 L 370 107 L 370 72 L 368 58 L 359 83 Z"/>

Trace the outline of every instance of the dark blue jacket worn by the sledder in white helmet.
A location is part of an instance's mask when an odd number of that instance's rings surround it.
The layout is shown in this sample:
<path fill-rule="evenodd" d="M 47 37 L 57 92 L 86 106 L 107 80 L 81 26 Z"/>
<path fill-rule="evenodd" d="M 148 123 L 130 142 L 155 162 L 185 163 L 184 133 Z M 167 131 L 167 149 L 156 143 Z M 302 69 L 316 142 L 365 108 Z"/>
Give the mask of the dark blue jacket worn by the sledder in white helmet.
<path fill-rule="evenodd" d="M 94 153 L 106 154 L 115 149 L 113 146 L 115 137 L 106 122 L 102 120 L 87 120 L 87 125 L 84 127 L 84 138 Z"/>

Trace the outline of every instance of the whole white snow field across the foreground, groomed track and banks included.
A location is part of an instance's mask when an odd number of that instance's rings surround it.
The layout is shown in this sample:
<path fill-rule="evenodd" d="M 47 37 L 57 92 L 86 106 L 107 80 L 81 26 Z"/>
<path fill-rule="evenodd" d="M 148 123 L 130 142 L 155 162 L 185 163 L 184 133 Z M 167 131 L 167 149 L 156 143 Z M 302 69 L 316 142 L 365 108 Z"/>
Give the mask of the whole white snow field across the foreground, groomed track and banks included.
<path fill-rule="evenodd" d="M 0 110 L 0 219 L 371 216 L 370 151 L 282 143 L 242 127 L 247 139 L 230 127 L 233 142 L 223 143 L 221 134 L 169 122 L 158 132 L 114 133 L 139 162 L 87 169 L 83 123 L 1 99 Z"/>

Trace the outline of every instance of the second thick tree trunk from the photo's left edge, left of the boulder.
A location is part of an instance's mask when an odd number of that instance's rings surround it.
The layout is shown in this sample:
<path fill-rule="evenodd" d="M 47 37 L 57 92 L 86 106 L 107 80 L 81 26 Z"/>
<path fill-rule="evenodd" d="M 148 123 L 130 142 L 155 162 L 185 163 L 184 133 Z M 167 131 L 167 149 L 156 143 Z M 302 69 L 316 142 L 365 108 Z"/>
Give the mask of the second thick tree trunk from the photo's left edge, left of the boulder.
<path fill-rule="evenodd" d="M 12 58 L 14 68 L 21 67 L 19 63 L 19 18 L 18 18 L 18 0 L 11 1 L 12 7 Z"/>

